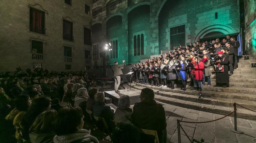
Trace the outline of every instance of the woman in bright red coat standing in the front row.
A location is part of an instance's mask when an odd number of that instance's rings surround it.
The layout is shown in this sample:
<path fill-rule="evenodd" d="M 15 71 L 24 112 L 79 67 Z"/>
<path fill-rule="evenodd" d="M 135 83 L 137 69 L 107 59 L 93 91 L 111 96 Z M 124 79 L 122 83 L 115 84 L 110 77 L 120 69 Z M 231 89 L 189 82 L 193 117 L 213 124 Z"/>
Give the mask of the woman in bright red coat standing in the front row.
<path fill-rule="evenodd" d="M 194 79 L 194 89 L 196 91 L 202 91 L 202 80 L 205 69 L 205 64 L 201 61 L 201 58 L 196 57 L 194 59 L 195 63 L 195 79 Z M 199 64 L 198 64 L 199 61 Z"/>

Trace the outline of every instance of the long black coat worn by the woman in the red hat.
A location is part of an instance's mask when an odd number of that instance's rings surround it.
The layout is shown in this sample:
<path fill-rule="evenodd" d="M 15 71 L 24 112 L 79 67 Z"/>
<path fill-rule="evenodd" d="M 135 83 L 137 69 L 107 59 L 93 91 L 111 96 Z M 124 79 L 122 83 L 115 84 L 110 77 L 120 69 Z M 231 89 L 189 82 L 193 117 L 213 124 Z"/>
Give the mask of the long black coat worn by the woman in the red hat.
<path fill-rule="evenodd" d="M 224 61 L 223 61 L 223 58 L 225 58 Z M 218 68 L 216 68 L 216 83 L 229 83 L 228 64 L 229 64 L 228 57 L 223 55 L 220 61 L 220 65 L 224 65 L 224 71 L 220 72 Z"/>

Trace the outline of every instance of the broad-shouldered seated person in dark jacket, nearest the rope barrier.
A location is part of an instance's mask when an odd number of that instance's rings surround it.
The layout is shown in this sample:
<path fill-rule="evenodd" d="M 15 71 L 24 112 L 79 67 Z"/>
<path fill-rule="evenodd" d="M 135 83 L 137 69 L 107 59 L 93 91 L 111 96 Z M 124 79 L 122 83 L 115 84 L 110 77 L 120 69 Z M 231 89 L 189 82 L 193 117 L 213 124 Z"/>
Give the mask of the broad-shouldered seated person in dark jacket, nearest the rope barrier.
<path fill-rule="evenodd" d="M 131 120 L 136 127 L 156 130 L 161 142 L 166 134 L 165 112 L 163 106 L 156 103 L 154 96 L 152 89 L 141 90 L 141 102 L 134 104 Z M 147 143 L 154 142 L 152 138 L 143 138 L 143 140 Z"/>

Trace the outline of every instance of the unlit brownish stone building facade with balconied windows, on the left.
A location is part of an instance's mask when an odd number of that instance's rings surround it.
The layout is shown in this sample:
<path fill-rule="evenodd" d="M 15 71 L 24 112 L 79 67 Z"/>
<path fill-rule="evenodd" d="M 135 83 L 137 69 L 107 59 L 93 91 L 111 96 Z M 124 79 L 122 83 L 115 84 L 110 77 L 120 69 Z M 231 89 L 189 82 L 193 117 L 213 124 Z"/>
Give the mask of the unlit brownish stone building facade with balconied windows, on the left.
<path fill-rule="evenodd" d="M 42 67 L 49 71 L 89 68 L 91 2 L 1 1 L 0 71 L 14 71 L 18 66 L 23 70 Z"/>

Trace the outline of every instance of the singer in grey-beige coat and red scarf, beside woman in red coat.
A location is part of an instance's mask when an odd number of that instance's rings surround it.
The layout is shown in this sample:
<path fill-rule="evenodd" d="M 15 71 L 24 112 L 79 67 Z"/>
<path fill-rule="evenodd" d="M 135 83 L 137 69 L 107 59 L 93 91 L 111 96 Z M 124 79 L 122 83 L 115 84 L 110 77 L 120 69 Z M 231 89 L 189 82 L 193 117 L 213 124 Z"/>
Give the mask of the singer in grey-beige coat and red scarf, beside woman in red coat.
<path fill-rule="evenodd" d="M 207 86 L 210 87 L 211 86 L 211 71 L 210 71 L 210 58 L 209 56 L 207 55 L 204 55 L 203 59 L 202 59 L 202 62 L 204 62 L 205 64 L 205 69 L 204 69 L 204 75 L 203 75 L 203 84 L 202 85 L 205 85 L 205 79 L 207 78 Z"/>

